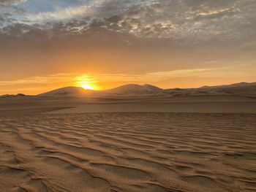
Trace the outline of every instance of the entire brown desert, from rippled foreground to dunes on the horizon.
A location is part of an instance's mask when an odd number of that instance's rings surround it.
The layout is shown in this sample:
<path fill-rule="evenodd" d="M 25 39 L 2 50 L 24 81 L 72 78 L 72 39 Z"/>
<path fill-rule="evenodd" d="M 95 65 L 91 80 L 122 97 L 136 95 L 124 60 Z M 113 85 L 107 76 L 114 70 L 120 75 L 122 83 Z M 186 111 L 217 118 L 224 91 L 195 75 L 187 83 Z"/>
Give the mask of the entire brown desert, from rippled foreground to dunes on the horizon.
<path fill-rule="evenodd" d="M 255 191 L 256 100 L 237 86 L 4 96 L 1 191 Z"/>

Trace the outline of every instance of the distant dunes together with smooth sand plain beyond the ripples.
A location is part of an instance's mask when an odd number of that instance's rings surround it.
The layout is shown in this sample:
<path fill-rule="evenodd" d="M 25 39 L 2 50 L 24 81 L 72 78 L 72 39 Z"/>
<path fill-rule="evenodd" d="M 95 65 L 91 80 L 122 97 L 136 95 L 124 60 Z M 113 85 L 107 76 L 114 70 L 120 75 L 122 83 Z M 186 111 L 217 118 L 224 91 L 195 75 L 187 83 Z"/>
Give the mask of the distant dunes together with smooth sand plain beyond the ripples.
<path fill-rule="evenodd" d="M 0 96 L 0 113 L 23 112 L 256 112 L 256 82 L 162 89 L 122 85 L 105 91 L 59 88 L 37 96 Z"/>

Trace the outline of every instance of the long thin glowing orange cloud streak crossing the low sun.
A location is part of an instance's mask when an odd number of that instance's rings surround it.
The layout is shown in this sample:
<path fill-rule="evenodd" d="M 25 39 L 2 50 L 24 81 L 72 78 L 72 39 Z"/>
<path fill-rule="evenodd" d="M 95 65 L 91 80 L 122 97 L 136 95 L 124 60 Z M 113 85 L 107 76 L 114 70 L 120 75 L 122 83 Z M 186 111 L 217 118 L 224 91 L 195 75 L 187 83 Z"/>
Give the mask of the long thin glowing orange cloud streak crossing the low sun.
<path fill-rule="evenodd" d="M 75 76 L 75 74 L 49 74 L 46 76 L 36 76 L 36 77 L 26 77 L 18 80 L 4 80 L 0 81 L 1 86 L 8 85 L 37 85 L 37 84 L 54 84 L 60 82 L 72 83 L 74 85 L 80 85 L 80 82 L 90 82 L 97 84 L 97 82 L 108 82 L 116 81 L 122 82 L 126 80 L 127 82 L 137 81 L 137 82 L 151 82 L 160 81 L 167 78 L 175 77 L 192 77 L 192 76 L 204 76 L 205 74 L 212 72 L 222 71 L 220 69 L 179 69 L 166 72 L 150 72 L 150 73 L 138 73 L 138 74 L 80 74 Z"/>

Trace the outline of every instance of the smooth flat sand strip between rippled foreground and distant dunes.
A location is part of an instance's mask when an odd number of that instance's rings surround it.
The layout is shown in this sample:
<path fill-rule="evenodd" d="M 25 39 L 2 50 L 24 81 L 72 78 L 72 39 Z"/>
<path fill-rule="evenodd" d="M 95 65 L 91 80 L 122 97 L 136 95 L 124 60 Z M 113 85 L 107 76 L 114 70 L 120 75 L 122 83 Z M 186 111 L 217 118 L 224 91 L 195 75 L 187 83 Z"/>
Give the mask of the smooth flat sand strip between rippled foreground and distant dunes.
<path fill-rule="evenodd" d="M 39 97 L 0 99 L 0 115 L 38 112 L 225 112 L 256 113 L 256 97 L 244 96 L 124 96 L 108 98 Z"/>

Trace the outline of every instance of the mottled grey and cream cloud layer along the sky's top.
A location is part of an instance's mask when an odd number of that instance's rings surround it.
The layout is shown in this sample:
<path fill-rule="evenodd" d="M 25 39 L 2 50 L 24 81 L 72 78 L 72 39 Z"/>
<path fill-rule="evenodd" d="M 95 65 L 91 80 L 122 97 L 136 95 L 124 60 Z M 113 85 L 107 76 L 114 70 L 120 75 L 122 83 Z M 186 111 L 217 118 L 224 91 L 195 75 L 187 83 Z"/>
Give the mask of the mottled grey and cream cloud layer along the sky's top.
<path fill-rule="evenodd" d="M 9 7 L 18 7 L 20 2 L 1 0 Z M 91 0 L 52 8 L 22 15 L 0 15 L 0 23 L 5 20 L 12 24 L 36 24 L 45 30 L 53 28 L 54 23 L 64 23 L 65 34 L 74 33 L 74 28 L 80 34 L 99 25 L 140 38 L 188 40 L 241 39 L 253 36 L 256 28 L 256 1 L 248 0 Z"/>

